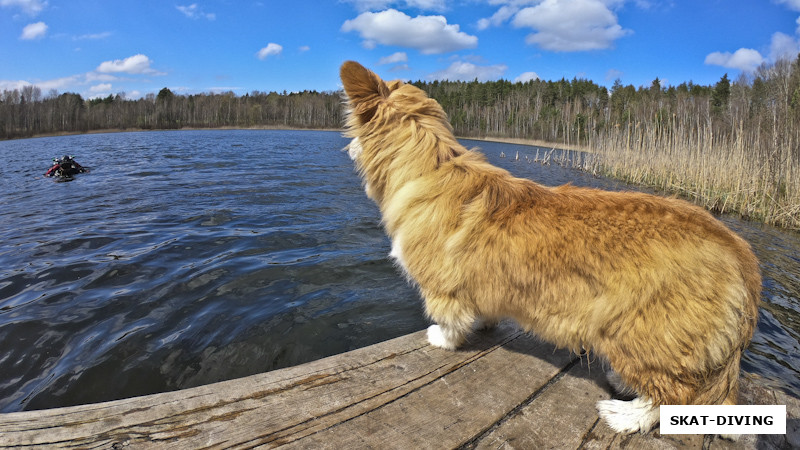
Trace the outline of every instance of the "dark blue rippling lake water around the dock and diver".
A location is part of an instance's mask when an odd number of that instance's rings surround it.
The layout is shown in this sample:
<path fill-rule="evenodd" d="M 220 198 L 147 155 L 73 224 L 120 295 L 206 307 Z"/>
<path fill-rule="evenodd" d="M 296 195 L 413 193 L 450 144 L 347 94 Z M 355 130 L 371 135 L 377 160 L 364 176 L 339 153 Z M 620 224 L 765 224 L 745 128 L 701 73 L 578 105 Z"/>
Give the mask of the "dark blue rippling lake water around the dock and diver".
<path fill-rule="evenodd" d="M 198 386 L 425 328 L 346 144 L 275 130 L 0 142 L 0 411 Z M 527 163 L 532 147 L 464 144 L 544 184 L 633 189 Z M 63 154 L 91 172 L 43 178 Z M 743 368 L 800 396 L 800 236 L 722 220 L 764 274 Z"/>

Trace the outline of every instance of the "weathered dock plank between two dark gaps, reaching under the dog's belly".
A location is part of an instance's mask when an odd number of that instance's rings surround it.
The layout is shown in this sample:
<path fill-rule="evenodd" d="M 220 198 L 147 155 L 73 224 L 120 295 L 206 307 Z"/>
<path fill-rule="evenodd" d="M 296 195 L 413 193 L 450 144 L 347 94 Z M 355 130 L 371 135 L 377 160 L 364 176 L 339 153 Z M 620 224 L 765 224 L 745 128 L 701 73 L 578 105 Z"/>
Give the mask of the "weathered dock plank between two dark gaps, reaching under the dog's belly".
<path fill-rule="evenodd" d="M 401 401 L 299 439 L 291 447 L 458 447 L 548 384 L 572 360 L 568 352 L 554 352 L 529 337 L 510 340 Z"/>

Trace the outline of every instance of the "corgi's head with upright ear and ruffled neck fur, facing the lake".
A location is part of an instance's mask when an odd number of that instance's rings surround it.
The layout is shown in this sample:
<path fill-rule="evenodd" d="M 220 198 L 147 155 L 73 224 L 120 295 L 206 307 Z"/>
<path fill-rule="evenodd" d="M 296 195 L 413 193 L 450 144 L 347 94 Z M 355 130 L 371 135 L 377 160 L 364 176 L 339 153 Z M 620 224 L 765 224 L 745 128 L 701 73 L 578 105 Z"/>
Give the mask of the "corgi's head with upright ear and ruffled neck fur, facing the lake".
<path fill-rule="evenodd" d="M 353 61 L 342 64 L 340 75 L 347 136 L 353 138 L 350 157 L 374 200 L 466 151 L 453 137 L 442 107 L 421 89 L 385 82 Z"/>

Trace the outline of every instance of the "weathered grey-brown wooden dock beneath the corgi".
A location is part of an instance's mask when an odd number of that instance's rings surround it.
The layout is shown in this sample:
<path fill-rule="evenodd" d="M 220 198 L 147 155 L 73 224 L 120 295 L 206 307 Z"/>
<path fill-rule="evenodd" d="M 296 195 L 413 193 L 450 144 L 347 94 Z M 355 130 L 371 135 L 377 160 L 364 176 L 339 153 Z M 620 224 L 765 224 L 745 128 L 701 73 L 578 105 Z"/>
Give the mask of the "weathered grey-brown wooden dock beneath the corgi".
<path fill-rule="evenodd" d="M 510 325 L 462 350 L 424 332 L 287 369 L 182 391 L 0 415 L 0 447 L 519 448 L 800 447 L 800 400 L 742 379 L 741 403 L 787 405 L 787 434 L 617 435 L 595 402 L 610 398 L 588 365 Z"/>

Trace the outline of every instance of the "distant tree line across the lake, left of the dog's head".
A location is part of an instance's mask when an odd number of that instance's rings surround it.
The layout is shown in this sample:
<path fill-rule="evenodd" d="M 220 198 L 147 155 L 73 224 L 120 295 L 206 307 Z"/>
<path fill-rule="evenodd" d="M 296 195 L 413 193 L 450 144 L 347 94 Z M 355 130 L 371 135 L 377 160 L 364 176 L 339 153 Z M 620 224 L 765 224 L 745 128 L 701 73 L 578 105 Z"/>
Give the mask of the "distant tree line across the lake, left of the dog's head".
<path fill-rule="evenodd" d="M 124 93 L 86 100 L 25 86 L 0 95 L 0 139 L 112 129 L 339 128 L 342 121 L 338 92 L 176 95 L 163 88 L 136 100 Z"/>

